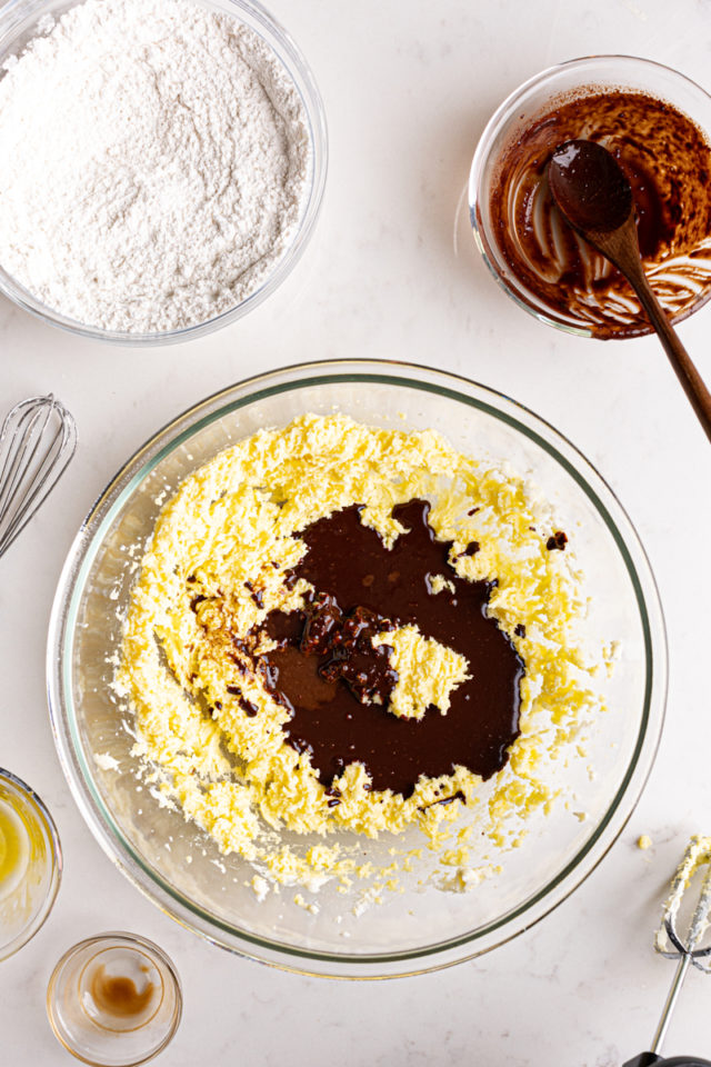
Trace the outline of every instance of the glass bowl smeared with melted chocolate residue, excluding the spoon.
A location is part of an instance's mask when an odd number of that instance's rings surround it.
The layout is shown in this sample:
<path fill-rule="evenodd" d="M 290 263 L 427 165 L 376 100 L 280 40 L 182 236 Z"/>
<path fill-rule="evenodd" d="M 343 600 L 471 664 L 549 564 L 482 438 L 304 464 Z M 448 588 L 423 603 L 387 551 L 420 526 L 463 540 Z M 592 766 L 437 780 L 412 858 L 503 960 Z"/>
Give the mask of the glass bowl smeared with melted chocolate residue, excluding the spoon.
<path fill-rule="evenodd" d="M 584 337 L 651 332 L 629 283 L 563 221 L 547 168 L 562 141 L 613 153 L 634 193 L 644 269 L 670 317 L 711 297 L 711 97 L 668 67 L 624 56 L 573 60 L 505 100 L 472 162 L 477 243 L 537 318 Z"/>

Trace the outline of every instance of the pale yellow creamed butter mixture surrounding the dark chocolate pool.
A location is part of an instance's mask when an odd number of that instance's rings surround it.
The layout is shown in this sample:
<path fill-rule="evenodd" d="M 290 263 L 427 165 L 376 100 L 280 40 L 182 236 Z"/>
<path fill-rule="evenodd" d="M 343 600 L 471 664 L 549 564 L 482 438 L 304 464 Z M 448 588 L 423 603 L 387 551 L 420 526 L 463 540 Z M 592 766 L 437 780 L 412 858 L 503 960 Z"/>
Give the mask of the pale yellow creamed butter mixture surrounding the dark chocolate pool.
<path fill-rule="evenodd" d="M 272 609 L 302 606 L 308 585 L 284 584 L 306 551 L 300 531 L 359 503 L 362 521 L 390 546 L 401 532 L 392 509 L 413 498 L 431 502 L 437 537 L 454 542 L 457 574 L 497 580 L 489 611 L 525 664 L 521 736 L 485 805 L 475 802 L 481 779 L 463 767 L 438 780 L 421 777 L 404 799 L 370 789 L 363 765 L 351 764 L 333 782 L 340 804 L 329 806 L 309 756 L 284 739 L 288 710 L 259 677 L 241 672 L 232 635 L 246 637 Z M 537 777 L 539 757 L 563 745 L 598 699 L 572 636 L 584 611 L 581 578 L 570 550 L 547 549 L 541 507 L 522 480 L 460 455 L 433 431 L 378 429 L 342 416 L 303 416 L 257 432 L 188 477 L 163 507 L 143 557 L 117 674 L 136 712 L 137 750 L 158 772 L 166 800 L 221 851 L 258 862 L 277 881 L 311 887 L 352 869 L 340 831 L 377 837 L 414 824 L 437 844 L 461 804 L 433 801 L 454 795 L 503 845 L 511 815 L 550 802 Z M 475 555 L 454 555 L 472 540 Z M 447 580 L 438 576 L 437 588 Z M 260 588 L 259 604 L 246 582 Z M 432 704 L 430 714 L 445 715 L 449 694 L 469 677 L 464 657 L 415 626 L 380 639 L 393 648 L 399 675 L 389 710 L 417 718 Z M 238 684 L 259 714 L 246 714 L 229 692 Z M 323 845 L 300 854 L 276 844 L 270 829 L 284 828 L 317 834 Z M 464 842 L 460 851 L 465 866 Z"/>

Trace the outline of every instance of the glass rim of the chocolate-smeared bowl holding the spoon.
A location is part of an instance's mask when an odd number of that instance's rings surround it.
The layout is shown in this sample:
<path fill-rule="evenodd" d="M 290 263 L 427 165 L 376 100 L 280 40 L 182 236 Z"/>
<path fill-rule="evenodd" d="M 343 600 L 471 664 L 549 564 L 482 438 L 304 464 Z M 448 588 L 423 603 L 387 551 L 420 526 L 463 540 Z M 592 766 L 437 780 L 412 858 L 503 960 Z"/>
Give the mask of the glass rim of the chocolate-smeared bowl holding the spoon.
<path fill-rule="evenodd" d="M 513 89 L 498 106 L 485 127 L 483 128 L 479 140 L 477 141 L 477 147 L 474 149 L 474 154 L 472 157 L 471 167 L 469 170 L 469 180 L 467 183 L 467 199 L 469 202 L 469 221 L 472 228 L 474 243 L 481 253 L 481 258 L 489 268 L 491 276 L 493 277 L 497 285 L 505 292 L 509 299 L 522 308 L 528 315 L 531 315 L 534 319 L 538 319 L 539 322 L 543 322 L 545 326 L 551 326 L 553 329 L 560 330 L 563 333 L 570 333 L 573 337 L 584 337 L 590 338 L 591 340 L 600 340 L 595 337 L 592 330 L 587 329 L 583 326 L 573 326 L 572 322 L 567 322 L 561 318 L 558 318 L 555 313 L 551 310 L 543 310 L 538 306 L 529 302 L 525 298 L 524 290 L 514 289 L 513 285 L 504 278 L 500 270 L 498 270 L 494 263 L 494 256 L 491 252 L 491 241 L 487 236 L 488 227 L 481 223 L 479 219 L 479 210 L 481 205 L 481 197 L 479 195 L 479 189 L 483 179 L 484 168 L 489 159 L 489 153 L 491 151 L 491 143 L 498 133 L 503 129 L 505 123 L 509 121 L 511 112 L 515 110 L 515 107 L 519 102 L 525 99 L 530 92 L 538 89 L 540 86 L 545 84 L 559 73 L 564 73 L 569 68 L 580 67 L 584 70 L 588 66 L 593 66 L 600 61 L 610 61 L 610 62 L 620 62 L 623 68 L 630 69 L 630 67 L 640 66 L 642 68 L 650 68 L 663 71 L 664 73 L 672 74 L 674 78 L 679 79 L 680 82 L 685 82 L 687 86 L 690 86 L 697 92 L 700 92 L 705 97 L 711 106 L 711 93 L 699 84 L 698 81 L 694 81 L 693 78 L 689 78 L 688 74 L 682 73 L 680 70 L 677 70 L 675 67 L 670 67 L 668 63 L 660 63 L 654 59 L 645 59 L 643 56 L 630 56 L 624 52 L 599 52 L 592 56 L 578 56 L 575 59 L 567 59 L 561 63 L 553 63 L 551 67 L 547 67 L 544 70 L 539 71 L 535 74 L 532 74 L 531 78 L 528 78 L 525 81 L 521 82 L 515 89 Z M 594 84 L 594 82 L 590 82 Z M 653 93 L 652 93 L 653 94 Z M 690 116 L 690 118 L 693 117 Z M 695 121 L 695 120 L 693 120 Z M 711 128 L 707 131 L 709 138 L 711 139 Z M 691 315 L 694 315 L 697 311 L 711 300 L 711 288 L 705 295 L 699 297 L 691 307 L 685 308 L 680 315 L 673 317 L 673 323 L 677 326 L 679 322 L 683 322 L 684 319 L 688 319 Z M 639 333 L 635 333 L 634 337 L 649 337 L 654 332 L 653 328 L 640 330 Z M 610 340 L 629 340 L 627 337 L 617 337 L 612 335 Z"/>

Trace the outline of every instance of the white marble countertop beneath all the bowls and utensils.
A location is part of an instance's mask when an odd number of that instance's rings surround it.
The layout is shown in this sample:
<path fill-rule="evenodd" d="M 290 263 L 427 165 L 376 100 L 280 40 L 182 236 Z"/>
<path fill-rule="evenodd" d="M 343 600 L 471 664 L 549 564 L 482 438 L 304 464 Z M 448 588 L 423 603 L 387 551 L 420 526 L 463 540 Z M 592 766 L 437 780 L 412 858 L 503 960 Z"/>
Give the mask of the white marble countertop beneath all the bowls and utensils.
<path fill-rule="evenodd" d="M 627 52 L 711 89 L 711 3 L 678 0 L 274 0 L 320 83 L 331 166 L 312 245 L 264 306 L 210 338 L 106 348 L 0 303 L 0 407 L 54 390 L 80 447 L 58 491 L 0 561 L 0 762 L 52 809 L 66 869 L 37 938 L 0 969 L 0 1063 L 71 1063 L 44 991 L 60 954 L 104 929 L 143 934 L 183 980 L 173 1067 L 478 1064 L 619 1067 L 649 1045 L 673 965 L 651 947 L 668 879 L 692 832 L 711 832 L 708 660 L 711 450 L 653 339 L 564 337 L 499 291 L 462 197 L 497 104 L 552 62 Z M 711 380 L 711 308 L 681 327 Z M 252 372 L 304 359 L 409 359 L 510 393 L 553 422 L 608 479 L 660 586 L 670 642 L 668 719 L 642 800 L 609 856 L 557 911 L 489 956 L 427 977 L 330 983 L 232 957 L 144 900 L 94 842 L 48 724 L 44 639 L 84 512 L 169 418 Z M 640 834 L 653 847 L 635 847 Z M 711 978 L 687 987 L 667 1049 L 711 1058 Z"/>

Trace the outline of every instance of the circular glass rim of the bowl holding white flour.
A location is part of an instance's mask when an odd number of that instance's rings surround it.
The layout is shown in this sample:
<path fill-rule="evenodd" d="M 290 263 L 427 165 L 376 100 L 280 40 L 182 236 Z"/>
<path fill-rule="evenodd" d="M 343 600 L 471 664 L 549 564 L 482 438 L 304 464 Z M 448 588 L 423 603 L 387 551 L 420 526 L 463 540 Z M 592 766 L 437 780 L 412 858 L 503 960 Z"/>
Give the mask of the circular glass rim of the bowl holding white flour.
<path fill-rule="evenodd" d="M 72 0 L 69 7 L 78 7 L 83 0 Z M 214 8 L 220 0 L 191 0 L 203 8 Z M 308 198 L 301 218 L 299 219 L 293 239 L 277 261 L 274 269 L 262 282 L 243 300 L 221 311 L 219 315 L 192 326 L 180 327 L 173 330 L 162 330 L 152 333 L 139 333 L 124 330 L 103 330 L 100 327 L 88 326 L 69 316 L 62 315 L 49 305 L 43 303 L 33 293 L 24 288 L 17 279 L 8 273 L 0 263 L 0 295 L 17 307 L 28 311 L 34 318 L 57 327 L 78 337 L 103 341 L 107 345 L 121 345 L 127 348 L 152 348 L 161 345 L 176 345 L 182 341 L 194 340 L 216 330 L 229 326 L 253 308 L 262 303 L 288 278 L 301 259 L 316 228 L 321 212 L 323 191 L 328 173 L 329 138 L 323 98 L 318 87 L 311 67 L 296 43 L 289 31 L 260 2 L 260 0 L 222 0 L 223 3 L 236 8 L 234 18 L 247 16 L 259 24 L 252 27 L 250 21 L 244 24 L 261 36 L 279 62 L 284 67 L 289 78 L 301 98 L 309 128 L 311 144 L 311 176 L 309 180 Z M 37 17 L 41 17 L 47 0 L 10 0 L 6 8 L 0 8 L 0 44 L 7 46 L 17 37 L 17 24 L 20 21 L 19 12 L 37 9 Z M 227 12 L 226 12 L 227 13 Z"/>

